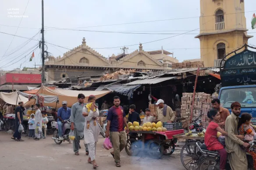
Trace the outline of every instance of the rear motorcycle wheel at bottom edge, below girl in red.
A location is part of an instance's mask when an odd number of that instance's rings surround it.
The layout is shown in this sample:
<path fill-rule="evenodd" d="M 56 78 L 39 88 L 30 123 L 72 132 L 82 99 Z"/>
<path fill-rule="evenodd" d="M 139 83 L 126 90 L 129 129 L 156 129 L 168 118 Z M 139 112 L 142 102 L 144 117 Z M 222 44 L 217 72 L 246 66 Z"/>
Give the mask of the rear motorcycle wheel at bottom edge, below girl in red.
<path fill-rule="evenodd" d="M 216 162 L 216 157 L 206 157 L 200 161 L 197 170 L 219 170 L 220 163 Z"/>

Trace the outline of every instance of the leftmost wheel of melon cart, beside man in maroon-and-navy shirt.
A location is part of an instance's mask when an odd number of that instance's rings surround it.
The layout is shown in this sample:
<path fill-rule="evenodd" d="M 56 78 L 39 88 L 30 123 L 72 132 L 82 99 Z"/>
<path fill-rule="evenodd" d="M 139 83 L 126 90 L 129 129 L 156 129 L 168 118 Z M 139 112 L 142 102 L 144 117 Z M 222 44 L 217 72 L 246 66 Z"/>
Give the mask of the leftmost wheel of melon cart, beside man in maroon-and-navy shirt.
<path fill-rule="evenodd" d="M 138 153 L 140 152 L 142 146 L 138 140 L 130 138 L 127 140 L 124 148 L 125 148 L 125 152 L 129 156 L 137 156 Z"/>

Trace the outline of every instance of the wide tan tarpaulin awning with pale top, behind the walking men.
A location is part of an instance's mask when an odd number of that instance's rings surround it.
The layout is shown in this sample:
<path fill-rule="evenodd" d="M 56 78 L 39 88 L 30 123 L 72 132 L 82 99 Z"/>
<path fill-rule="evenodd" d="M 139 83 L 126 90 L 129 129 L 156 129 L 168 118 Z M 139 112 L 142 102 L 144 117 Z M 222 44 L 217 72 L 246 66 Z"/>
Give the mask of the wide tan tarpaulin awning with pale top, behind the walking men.
<path fill-rule="evenodd" d="M 62 107 L 61 102 L 67 101 L 67 106 L 71 107 L 74 103 L 77 102 L 78 94 L 85 95 L 85 102 L 88 101 L 89 95 L 94 95 L 96 99 L 105 96 L 106 94 L 110 93 L 111 91 L 77 91 L 77 90 L 65 90 L 59 88 L 49 88 L 46 86 L 42 86 L 36 94 L 45 94 L 50 96 L 57 96 L 59 97 L 60 102 L 57 104 L 57 107 Z M 45 104 L 46 106 L 56 107 L 56 102 Z"/>

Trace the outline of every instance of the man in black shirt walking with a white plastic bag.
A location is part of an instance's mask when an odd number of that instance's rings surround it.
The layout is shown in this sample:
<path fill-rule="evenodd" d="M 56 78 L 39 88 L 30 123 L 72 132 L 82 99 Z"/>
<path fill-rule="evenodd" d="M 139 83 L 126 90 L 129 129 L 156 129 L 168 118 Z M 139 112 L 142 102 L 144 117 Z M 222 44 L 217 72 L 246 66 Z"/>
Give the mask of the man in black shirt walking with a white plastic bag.
<path fill-rule="evenodd" d="M 17 140 L 17 141 L 24 141 L 24 140 L 21 139 L 21 133 L 18 131 L 19 125 L 22 124 L 22 121 L 23 121 L 23 111 L 21 109 L 22 106 L 23 106 L 23 101 L 19 101 L 18 106 L 15 109 L 16 130 L 15 130 L 11 139 Z"/>

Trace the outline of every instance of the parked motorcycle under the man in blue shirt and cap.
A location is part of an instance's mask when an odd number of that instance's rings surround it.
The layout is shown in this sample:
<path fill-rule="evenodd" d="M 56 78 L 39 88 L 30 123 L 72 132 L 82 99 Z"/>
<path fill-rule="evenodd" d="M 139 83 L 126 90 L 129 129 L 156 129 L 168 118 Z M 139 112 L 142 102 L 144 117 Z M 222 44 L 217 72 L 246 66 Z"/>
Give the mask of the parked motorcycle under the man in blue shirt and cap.
<path fill-rule="evenodd" d="M 64 122 L 62 123 L 62 137 L 64 140 L 59 139 L 57 121 L 52 121 L 51 125 L 52 125 L 52 128 L 55 128 L 55 130 L 53 131 L 52 139 L 56 144 L 60 145 L 62 142 L 65 142 L 65 140 L 68 140 L 68 134 L 71 128 L 71 122 L 69 120 L 64 120 Z"/>

